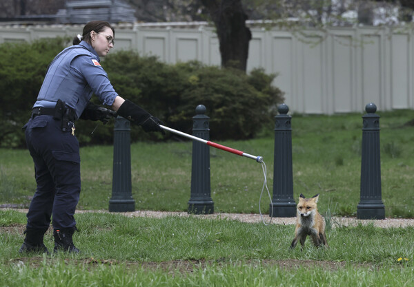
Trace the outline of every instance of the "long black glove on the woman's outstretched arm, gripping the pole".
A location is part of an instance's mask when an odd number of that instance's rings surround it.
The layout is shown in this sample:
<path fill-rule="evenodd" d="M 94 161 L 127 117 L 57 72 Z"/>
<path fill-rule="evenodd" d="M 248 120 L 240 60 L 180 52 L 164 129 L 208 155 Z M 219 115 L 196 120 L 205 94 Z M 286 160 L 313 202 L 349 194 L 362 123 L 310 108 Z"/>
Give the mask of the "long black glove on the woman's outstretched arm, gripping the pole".
<path fill-rule="evenodd" d="M 135 103 L 132 103 L 130 100 L 125 100 L 125 102 L 122 103 L 117 114 L 130 120 L 130 122 L 135 125 L 141 125 L 146 132 L 160 131 L 162 134 L 166 134 L 164 129 L 159 126 L 164 125 L 159 118 L 152 116 L 148 111 L 135 105 Z"/>

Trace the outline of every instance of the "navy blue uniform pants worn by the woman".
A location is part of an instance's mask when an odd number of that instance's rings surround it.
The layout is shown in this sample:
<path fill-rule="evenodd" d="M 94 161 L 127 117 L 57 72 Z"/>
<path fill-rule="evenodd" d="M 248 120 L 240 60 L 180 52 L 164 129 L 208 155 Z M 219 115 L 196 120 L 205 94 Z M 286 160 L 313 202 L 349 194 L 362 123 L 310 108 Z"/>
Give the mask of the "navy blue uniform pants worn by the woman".
<path fill-rule="evenodd" d="M 30 203 L 28 228 L 75 227 L 73 215 L 81 192 L 79 142 L 60 120 L 36 116 L 26 124 L 26 143 L 34 161 L 36 193 Z"/>

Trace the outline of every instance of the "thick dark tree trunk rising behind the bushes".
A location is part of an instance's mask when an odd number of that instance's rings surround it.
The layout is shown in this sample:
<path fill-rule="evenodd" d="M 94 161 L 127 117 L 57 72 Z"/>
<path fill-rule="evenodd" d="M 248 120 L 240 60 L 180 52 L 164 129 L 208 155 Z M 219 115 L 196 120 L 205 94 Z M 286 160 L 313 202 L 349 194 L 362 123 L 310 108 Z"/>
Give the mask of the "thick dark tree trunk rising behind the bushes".
<path fill-rule="evenodd" d="M 200 0 L 215 23 L 219 38 L 221 66 L 246 72 L 248 42 L 252 39 L 246 27 L 247 15 L 241 0 Z"/>

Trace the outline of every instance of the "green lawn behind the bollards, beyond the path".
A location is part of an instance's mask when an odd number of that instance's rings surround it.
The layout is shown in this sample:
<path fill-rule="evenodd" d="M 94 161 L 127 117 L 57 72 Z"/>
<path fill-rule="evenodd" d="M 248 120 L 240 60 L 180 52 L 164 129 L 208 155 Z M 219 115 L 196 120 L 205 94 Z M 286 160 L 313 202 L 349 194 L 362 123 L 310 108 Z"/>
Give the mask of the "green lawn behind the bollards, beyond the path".
<path fill-rule="evenodd" d="M 387 217 L 414 217 L 414 111 L 379 113 L 382 200 Z M 313 196 L 319 209 L 354 216 L 359 202 L 362 114 L 293 115 L 293 189 Z M 215 141 L 214 138 L 211 140 Z M 274 134 L 270 126 L 254 140 L 220 144 L 263 156 L 273 192 Z M 132 196 L 136 209 L 186 211 L 190 199 L 191 142 L 137 142 L 131 146 Z M 35 190 L 27 150 L 0 149 L 0 204 L 28 206 Z M 210 147 L 211 197 L 216 212 L 259 213 L 260 164 Z M 112 195 L 112 147 L 81 148 L 82 191 L 78 209 L 108 209 Z M 268 200 L 262 212 L 268 212 Z"/>

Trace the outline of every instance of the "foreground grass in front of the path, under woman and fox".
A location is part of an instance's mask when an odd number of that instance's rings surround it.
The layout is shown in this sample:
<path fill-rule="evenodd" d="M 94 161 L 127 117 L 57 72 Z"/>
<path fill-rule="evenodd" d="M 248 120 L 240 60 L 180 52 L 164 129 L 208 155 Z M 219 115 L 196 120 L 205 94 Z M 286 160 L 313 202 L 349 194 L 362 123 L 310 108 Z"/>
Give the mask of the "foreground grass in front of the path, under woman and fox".
<path fill-rule="evenodd" d="M 406 286 L 414 279 L 413 227 L 339 226 L 327 233 L 330 248 L 307 240 L 301 251 L 289 248 L 293 225 L 76 216 L 79 255 L 21 255 L 26 217 L 0 211 L 0 286 Z M 53 246 L 50 232 L 45 244 Z"/>

